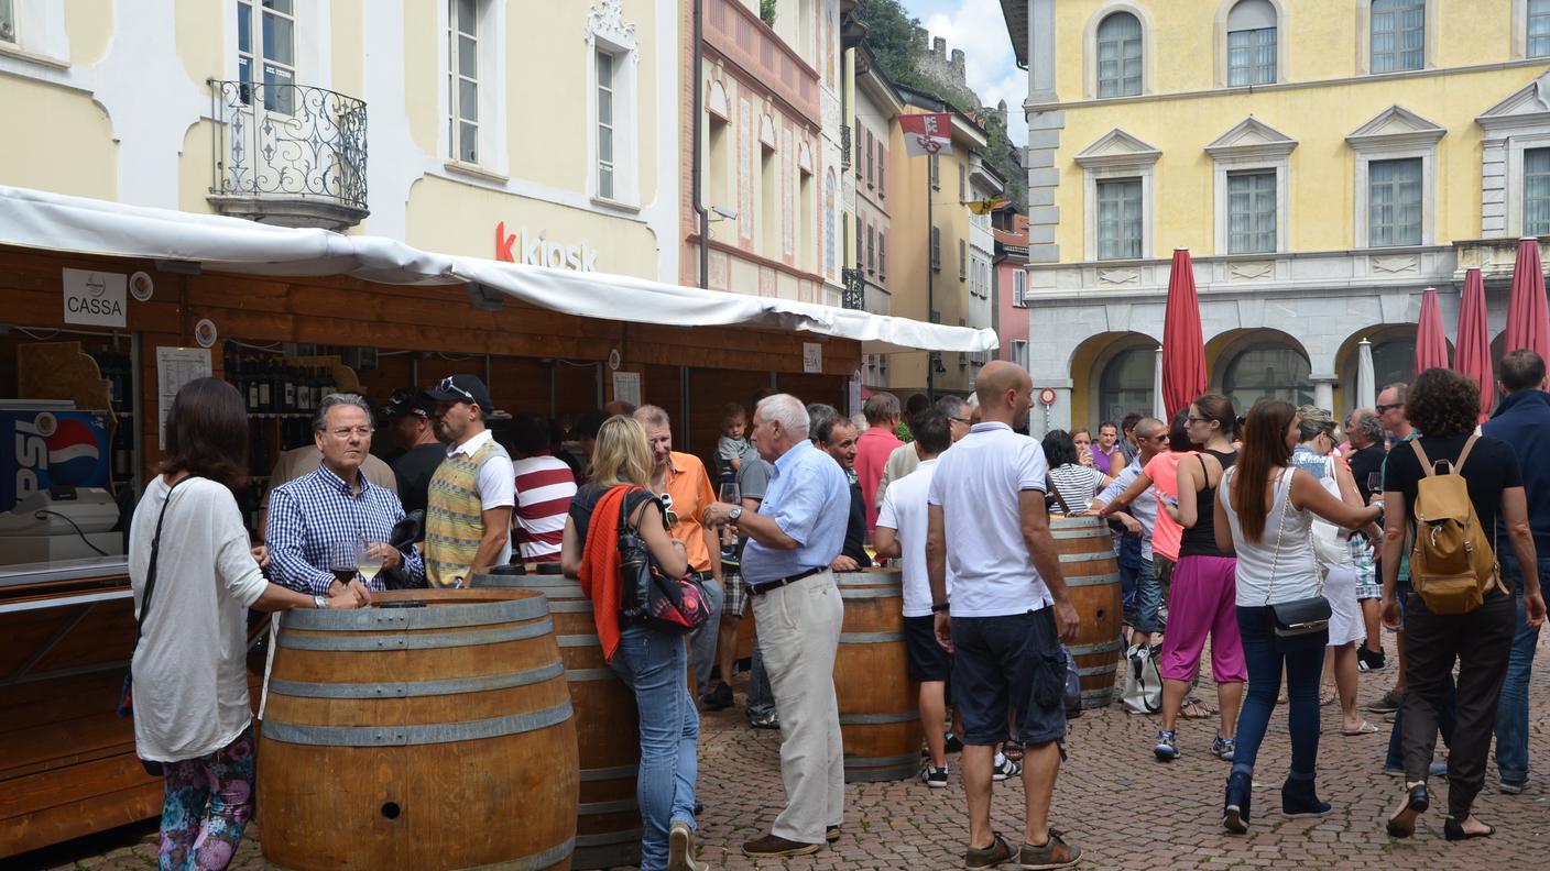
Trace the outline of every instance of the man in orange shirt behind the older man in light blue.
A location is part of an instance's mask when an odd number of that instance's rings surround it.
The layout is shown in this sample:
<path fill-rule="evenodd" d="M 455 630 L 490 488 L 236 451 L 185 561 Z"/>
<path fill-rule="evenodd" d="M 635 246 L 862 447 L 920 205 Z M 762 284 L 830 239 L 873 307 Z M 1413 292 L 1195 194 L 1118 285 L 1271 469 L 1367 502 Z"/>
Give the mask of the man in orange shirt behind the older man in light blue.
<path fill-rule="evenodd" d="M 716 662 L 716 634 L 721 629 L 721 608 L 725 589 L 721 584 L 721 535 L 715 527 L 701 522 L 708 505 L 716 502 L 710 487 L 705 463 L 694 454 L 673 449 L 673 422 L 668 412 L 654 405 L 636 409 L 636 420 L 646 428 L 651 443 L 651 491 L 662 496 L 668 510 L 668 533 L 684 542 L 688 552 L 688 569 L 699 575 L 705 586 L 707 618 L 690 632 L 688 662 L 694 668 L 698 696 L 705 694 L 710 682 L 710 666 Z M 722 680 L 730 676 L 722 676 Z M 716 687 L 721 690 L 721 687 Z M 724 693 L 725 705 L 732 704 L 732 688 Z M 721 699 L 718 699 L 719 704 Z"/>

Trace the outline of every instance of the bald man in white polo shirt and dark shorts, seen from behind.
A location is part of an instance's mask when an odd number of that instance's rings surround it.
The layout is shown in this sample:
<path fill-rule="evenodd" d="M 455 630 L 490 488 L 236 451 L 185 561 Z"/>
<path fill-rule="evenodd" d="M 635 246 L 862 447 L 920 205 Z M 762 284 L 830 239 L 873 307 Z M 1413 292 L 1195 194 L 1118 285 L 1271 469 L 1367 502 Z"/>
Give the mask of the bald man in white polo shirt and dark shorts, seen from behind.
<path fill-rule="evenodd" d="M 975 394 L 983 422 L 938 460 L 927 494 L 932 612 L 938 640 L 953 654 L 953 699 L 964 721 L 969 868 L 1014 856 L 1025 868 L 1062 868 L 1082 857 L 1080 846 L 1049 828 L 1065 755 L 1060 643 L 1076 639 L 1080 618 L 1049 536 L 1045 453 L 1014 432 L 1028 423 L 1032 389 L 1017 364 L 981 369 Z M 1017 738 L 1026 745 L 1020 854 L 990 829 L 995 745 L 1008 738 L 1009 711 L 1017 711 Z"/>

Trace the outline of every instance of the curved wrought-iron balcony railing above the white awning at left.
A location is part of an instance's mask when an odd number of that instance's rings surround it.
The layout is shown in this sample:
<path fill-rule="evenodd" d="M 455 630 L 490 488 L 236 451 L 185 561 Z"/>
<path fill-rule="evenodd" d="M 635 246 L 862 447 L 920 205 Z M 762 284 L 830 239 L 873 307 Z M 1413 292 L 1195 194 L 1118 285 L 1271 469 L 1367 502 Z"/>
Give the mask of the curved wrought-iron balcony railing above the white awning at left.
<path fill-rule="evenodd" d="M 366 209 L 366 102 L 326 88 L 211 79 L 211 194 Z"/>

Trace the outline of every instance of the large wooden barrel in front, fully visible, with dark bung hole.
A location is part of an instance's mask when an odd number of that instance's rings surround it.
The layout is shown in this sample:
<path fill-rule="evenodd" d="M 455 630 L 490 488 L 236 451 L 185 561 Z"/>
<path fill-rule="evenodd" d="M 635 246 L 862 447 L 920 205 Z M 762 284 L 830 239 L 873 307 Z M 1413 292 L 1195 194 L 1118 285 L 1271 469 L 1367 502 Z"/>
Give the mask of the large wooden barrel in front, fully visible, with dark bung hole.
<path fill-rule="evenodd" d="M 259 736 L 264 857 L 570 868 L 577 733 L 536 590 L 398 590 L 281 618 Z"/>

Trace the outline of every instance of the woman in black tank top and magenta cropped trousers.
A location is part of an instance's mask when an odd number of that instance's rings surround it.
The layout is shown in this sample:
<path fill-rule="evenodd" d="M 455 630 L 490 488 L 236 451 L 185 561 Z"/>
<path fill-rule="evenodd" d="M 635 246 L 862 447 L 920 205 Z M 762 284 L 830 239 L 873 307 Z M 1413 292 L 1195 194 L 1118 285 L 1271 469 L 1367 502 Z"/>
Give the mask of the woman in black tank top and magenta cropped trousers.
<path fill-rule="evenodd" d="M 1178 758 L 1175 732 L 1180 708 L 1200 670 L 1200 657 L 1211 635 L 1211 677 L 1217 682 L 1221 721 L 1211 742 L 1211 755 L 1232 761 L 1237 741 L 1238 705 L 1243 704 L 1243 646 L 1234 612 L 1231 549 L 1217 547 L 1214 528 L 1217 485 L 1223 470 L 1237 460 L 1232 434 L 1237 414 L 1232 400 L 1220 394 L 1201 394 L 1189 405 L 1184 418 L 1189 440 L 1200 445 L 1198 454 L 1178 465 L 1178 502 L 1164 502 L 1164 511 L 1178 521 L 1178 564 L 1173 567 L 1169 631 L 1162 635 L 1162 728 L 1152 749 L 1161 761 Z"/>

